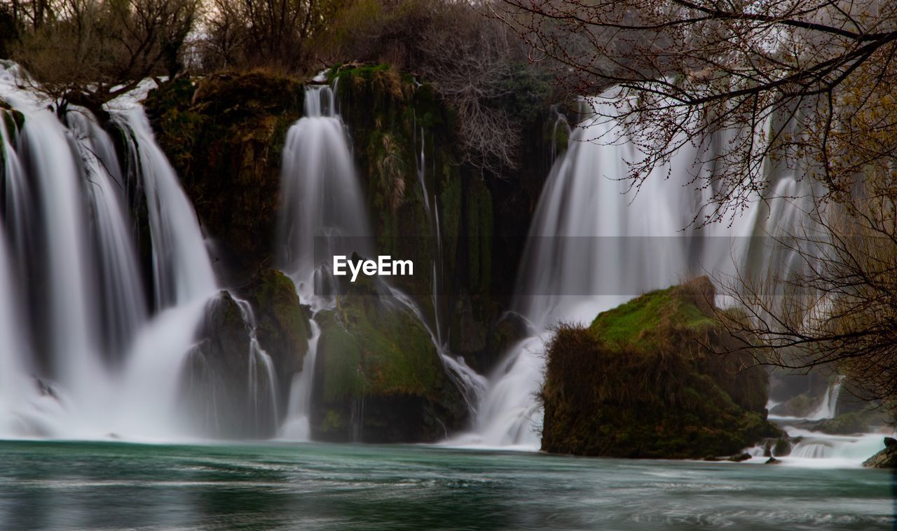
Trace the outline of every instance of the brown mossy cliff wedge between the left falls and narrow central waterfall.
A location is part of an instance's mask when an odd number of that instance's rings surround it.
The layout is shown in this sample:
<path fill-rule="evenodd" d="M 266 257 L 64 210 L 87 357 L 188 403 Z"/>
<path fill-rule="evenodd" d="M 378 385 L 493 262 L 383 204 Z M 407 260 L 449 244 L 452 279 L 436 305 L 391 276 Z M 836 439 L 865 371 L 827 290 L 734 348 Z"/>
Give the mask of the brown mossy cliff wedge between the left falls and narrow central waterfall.
<path fill-rule="evenodd" d="M 156 139 L 234 282 L 272 261 L 281 152 L 303 97 L 298 80 L 252 71 L 177 78 L 145 102 Z"/>

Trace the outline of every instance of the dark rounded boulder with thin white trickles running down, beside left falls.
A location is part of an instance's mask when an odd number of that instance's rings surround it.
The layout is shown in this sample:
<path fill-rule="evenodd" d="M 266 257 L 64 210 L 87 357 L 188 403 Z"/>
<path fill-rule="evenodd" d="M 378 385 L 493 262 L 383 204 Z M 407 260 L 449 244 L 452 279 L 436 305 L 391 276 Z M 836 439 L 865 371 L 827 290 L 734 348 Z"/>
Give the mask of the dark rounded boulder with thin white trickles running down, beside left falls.
<path fill-rule="evenodd" d="M 292 281 L 278 271 L 262 271 L 235 292 L 220 292 L 206 307 L 187 357 L 184 404 L 206 436 L 268 438 L 303 368 L 309 322 Z"/>

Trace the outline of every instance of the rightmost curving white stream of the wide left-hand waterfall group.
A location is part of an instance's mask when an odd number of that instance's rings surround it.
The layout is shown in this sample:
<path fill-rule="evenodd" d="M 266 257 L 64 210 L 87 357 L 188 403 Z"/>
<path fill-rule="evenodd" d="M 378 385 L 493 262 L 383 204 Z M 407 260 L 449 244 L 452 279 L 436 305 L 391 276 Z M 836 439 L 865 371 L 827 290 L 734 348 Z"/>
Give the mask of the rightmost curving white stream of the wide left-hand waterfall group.
<path fill-rule="evenodd" d="M 172 417 L 177 417 L 180 374 L 206 305 L 217 292 L 217 281 L 196 212 L 155 143 L 143 107 L 135 100 L 119 105 L 114 117 L 126 132 L 130 162 L 144 189 L 155 298 L 161 312 L 128 353 L 119 379 L 117 417 L 123 431 L 176 437 L 179 431 Z"/>

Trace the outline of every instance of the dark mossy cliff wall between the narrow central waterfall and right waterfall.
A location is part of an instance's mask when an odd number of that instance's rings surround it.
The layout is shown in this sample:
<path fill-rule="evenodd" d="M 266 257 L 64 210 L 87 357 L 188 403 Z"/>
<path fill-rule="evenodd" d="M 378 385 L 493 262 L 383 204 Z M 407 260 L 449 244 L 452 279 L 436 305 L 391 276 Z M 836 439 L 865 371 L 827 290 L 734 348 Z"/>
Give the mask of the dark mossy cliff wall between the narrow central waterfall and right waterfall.
<path fill-rule="evenodd" d="M 457 115 L 431 85 L 388 65 L 335 68 L 330 75 L 378 250 L 419 267 L 412 278 L 396 278 L 397 287 L 434 326 L 439 321 L 453 353 L 490 370 L 504 353 L 499 318 L 557 152 L 553 128 L 545 126 L 551 110 L 529 109 L 521 164 L 498 174 L 461 162 Z"/>

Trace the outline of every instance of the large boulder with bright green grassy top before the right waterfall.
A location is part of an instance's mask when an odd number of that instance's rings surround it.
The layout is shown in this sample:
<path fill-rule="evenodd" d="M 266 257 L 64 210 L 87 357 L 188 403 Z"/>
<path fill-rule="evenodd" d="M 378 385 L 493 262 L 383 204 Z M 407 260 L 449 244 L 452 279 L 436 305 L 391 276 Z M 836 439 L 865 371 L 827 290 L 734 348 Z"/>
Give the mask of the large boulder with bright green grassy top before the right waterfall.
<path fill-rule="evenodd" d="M 588 328 L 561 326 L 548 349 L 542 448 L 607 457 L 740 453 L 780 431 L 768 378 L 715 318 L 707 278 L 631 300 Z"/>

